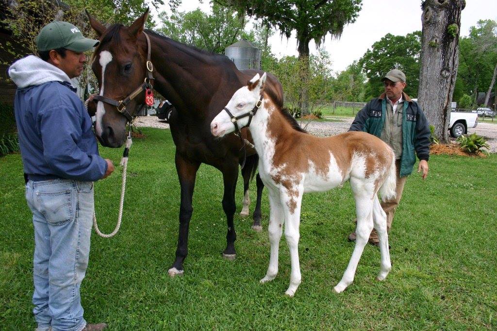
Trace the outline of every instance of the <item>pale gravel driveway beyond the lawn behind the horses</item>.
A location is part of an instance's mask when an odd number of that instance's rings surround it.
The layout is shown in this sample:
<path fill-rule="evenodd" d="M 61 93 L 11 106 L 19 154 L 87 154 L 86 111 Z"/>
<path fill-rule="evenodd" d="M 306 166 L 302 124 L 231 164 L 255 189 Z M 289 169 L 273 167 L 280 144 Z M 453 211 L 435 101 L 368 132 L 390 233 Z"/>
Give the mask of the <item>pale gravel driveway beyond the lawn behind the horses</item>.
<path fill-rule="evenodd" d="M 343 132 L 346 132 L 350 125 L 352 124 L 352 117 L 330 117 L 330 119 L 339 122 L 311 122 L 307 125 L 307 131 L 316 136 L 332 136 Z M 145 126 L 152 128 L 168 129 L 169 124 L 162 120 L 159 120 L 157 116 L 140 116 L 135 120 L 136 126 Z M 302 125 L 306 122 L 303 121 Z M 479 122 L 476 128 L 468 129 L 468 133 L 472 134 L 476 132 L 477 134 L 487 138 L 487 142 L 490 145 L 490 152 L 497 153 L 497 121 L 496 124 L 493 123 L 482 123 Z M 451 138 L 452 141 L 455 139 Z"/>

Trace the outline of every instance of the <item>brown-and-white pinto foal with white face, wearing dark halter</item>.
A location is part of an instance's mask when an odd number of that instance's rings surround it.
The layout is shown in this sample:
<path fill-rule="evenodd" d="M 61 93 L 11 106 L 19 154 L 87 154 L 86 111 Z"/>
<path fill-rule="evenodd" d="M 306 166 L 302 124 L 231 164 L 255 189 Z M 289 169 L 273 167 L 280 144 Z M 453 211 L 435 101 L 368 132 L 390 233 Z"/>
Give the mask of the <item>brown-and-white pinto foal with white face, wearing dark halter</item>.
<path fill-rule="evenodd" d="M 298 256 L 300 208 L 305 192 L 327 191 L 347 180 L 354 194 L 357 240 L 342 279 L 334 287 L 342 292 L 352 283 L 357 263 L 373 227 L 380 241 L 384 280 L 391 269 L 387 219 L 378 200 L 395 196 L 395 156 L 377 137 L 365 132 L 347 132 L 320 138 L 303 131 L 285 110 L 279 109 L 264 93 L 266 74 L 257 74 L 247 86 L 235 92 L 224 110 L 211 122 L 211 133 L 223 137 L 249 125 L 259 155 L 259 172 L 269 191 L 269 267 L 261 283 L 278 273 L 278 249 L 285 225 L 292 270 L 286 294 L 293 296 L 300 281 Z"/>

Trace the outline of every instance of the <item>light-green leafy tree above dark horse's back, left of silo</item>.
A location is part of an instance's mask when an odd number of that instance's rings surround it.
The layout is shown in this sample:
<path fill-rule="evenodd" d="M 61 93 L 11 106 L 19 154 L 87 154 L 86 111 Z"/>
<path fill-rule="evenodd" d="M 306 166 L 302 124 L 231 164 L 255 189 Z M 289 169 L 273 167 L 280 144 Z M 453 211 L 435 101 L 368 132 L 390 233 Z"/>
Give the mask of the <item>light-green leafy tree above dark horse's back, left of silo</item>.
<path fill-rule="evenodd" d="M 240 19 L 232 9 L 214 3 L 212 14 L 200 9 L 189 12 L 173 11 L 159 15 L 163 23 L 160 29 L 168 37 L 215 53 L 224 53 L 224 49 L 240 38 L 254 41 L 253 32 L 245 31 L 246 21 Z"/>

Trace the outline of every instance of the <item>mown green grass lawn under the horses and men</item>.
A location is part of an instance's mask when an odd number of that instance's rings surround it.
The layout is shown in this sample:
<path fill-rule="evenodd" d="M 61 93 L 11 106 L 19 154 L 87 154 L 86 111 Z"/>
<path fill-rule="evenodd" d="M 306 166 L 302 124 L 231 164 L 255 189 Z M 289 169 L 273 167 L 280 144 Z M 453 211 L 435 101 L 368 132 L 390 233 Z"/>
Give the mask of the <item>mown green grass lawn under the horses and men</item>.
<path fill-rule="evenodd" d="M 262 233 L 236 216 L 235 261 L 221 258 L 226 221 L 222 179 L 198 172 L 185 275 L 169 278 L 178 231 L 179 184 L 168 130 L 144 129 L 130 152 L 123 223 L 112 239 L 92 235 L 82 285 L 85 319 L 109 330 L 481 330 L 497 329 L 497 156 L 433 156 L 430 174 L 408 179 L 390 234 L 392 271 L 375 281 L 378 248 L 367 246 L 354 283 L 335 294 L 354 244 L 348 184 L 308 194 L 299 246 L 302 284 L 287 298 L 290 260 L 284 236 L 280 273 L 260 285 L 269 259 L 268 201 Z M 119 162 L 122 149 L 101 148 Z M 237 186 L 241 210 L 242 181 Z M 31 215 L 18 154 L 0 158 L 0 329 L 35 328 Z M 251 184 L 251 211 L 255 182 Z M 103 232 L 113 230 L 120 171 L 95 184 Z"/>

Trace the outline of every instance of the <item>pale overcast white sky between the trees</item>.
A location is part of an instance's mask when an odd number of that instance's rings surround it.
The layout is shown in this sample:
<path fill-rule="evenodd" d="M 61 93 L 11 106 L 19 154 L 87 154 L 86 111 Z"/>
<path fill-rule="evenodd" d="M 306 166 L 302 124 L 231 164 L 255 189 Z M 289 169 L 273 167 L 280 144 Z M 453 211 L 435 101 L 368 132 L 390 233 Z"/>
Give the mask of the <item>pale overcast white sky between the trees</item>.
<path fill-rule="evenodd" d="M 167 2 L 167 0 L 165 0 Z M 208 0 L 183 0 L 180 11 L 190 11 L 200 8 L 210 12 Z M 328 36 L 321 45 L 330 54 L 331 69 L 340 72 L 354 60 L 360 59 L 387 33 L 406 35 L 421 30 L 421 1 L 420 0 L 363 0 L 362 9 L 354 23 L 346 25 L 340 39 Z M 153 8 L 153 7 L 152 7 Z M 165 5 L 161 10 L 168 10 Z M 386 14 L 387 12 L 391 14 Z M 157 17 L 158 12 L 153 12 Z M 461 35 L 468 35 L 469 28 L 476 25 L 480 19 L 497 20 L 497 0 L 466 0 L 466 8 L 461 13 Z M 281 37 L 279 31 L 269 38 L 271 51 L 276 57 L 298 55 L 295 33 L 290 39 Z M 311 53 L 317 53 L 314 41 L 309 44 Z"/>

